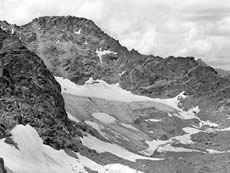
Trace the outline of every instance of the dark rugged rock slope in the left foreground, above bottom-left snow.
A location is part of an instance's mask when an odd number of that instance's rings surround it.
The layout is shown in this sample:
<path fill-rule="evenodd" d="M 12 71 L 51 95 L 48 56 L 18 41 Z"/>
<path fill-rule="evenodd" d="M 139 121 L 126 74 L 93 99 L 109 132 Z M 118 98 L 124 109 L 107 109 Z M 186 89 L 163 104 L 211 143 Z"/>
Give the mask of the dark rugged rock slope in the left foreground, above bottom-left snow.
<path fill-rule="evenodd" d="M 60 86 L 43 61 L 0 30 L 0 62 L 0 138 L 17 124 L 30 124 L 45 144 L 64 148 L 72 126 Z"/>

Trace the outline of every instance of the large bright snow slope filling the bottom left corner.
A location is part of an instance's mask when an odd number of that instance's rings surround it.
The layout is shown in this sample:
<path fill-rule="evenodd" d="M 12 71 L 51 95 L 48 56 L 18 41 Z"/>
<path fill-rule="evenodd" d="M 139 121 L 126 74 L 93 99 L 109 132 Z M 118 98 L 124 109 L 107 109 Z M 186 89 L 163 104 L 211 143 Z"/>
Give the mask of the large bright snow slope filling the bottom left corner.
<path fill-rule="evenodd" d="M 36 130 L 29 125 L 18 125 L 12 130 L 12 138 L 18 149 L 0 140 L 0 156 L 4 158 L 7 168 L 14 173 L 87 173 L 85 168 L 99 173 L 136 173 L 121 164 L 99 165 L 81 156 L 71 157 L 63 150 L 55 150 L 44 145 Z"/>

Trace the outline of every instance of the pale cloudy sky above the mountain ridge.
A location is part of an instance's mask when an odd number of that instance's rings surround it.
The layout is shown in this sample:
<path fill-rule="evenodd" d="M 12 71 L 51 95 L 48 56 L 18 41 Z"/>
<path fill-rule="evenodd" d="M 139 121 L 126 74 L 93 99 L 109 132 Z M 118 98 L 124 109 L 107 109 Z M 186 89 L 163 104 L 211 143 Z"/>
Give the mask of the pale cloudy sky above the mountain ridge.
<path fill-rule="evenodd" d="M 0 0 L 0 20 L 17 25 L 54 15 L 91 19 L 143 54 L 230 70 L 230 0 Z"/>

